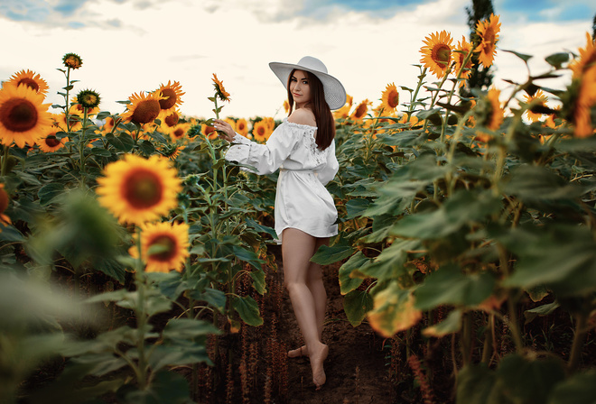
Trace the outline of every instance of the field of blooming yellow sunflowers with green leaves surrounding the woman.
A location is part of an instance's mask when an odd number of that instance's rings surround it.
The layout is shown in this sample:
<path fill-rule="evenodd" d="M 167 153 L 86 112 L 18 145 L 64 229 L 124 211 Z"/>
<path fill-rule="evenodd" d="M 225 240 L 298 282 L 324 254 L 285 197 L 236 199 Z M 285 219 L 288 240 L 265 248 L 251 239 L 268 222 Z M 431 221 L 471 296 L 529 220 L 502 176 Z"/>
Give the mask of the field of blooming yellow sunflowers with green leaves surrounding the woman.
<path fill-rule="evenodd" d="M 340 234 L 312 261 L 383 341 L 375 402 L 596 397 L 596 44 L 530 72 L 498 19 L 429 34 L 417 83 L 334 112 Z M 470 88 L 498 51 L 526 81 Z M 202 118 L 172 80 L 111 113 L 61 61 L 61 105 L 30 69 L 0 89 L 0 401 L 293 402 L 276 175 L 224 160 L 204 118 L 225 116 L 222 80 Z M 225 119 L 255 142 L 279 124 Z"/>

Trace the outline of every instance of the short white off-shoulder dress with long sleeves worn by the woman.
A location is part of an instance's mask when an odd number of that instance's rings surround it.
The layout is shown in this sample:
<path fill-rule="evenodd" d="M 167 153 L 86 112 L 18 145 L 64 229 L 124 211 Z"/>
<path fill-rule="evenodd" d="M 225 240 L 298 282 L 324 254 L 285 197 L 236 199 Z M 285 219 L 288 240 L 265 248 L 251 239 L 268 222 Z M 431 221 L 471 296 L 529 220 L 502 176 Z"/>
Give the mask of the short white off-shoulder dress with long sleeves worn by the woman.
<path fill-rule="evenodd" d="M 259 175 L 280 169 L 275 194 L 278 243 L 289 227 L 315 237 L 338 234 L 338 212 L 325 188 L 340 167 L 335 141 L 321 151 L 315 142 L 316 130 L 316 126 L 294 124 L 285 118 L 265 144 L 236 134 L 226 153 L 226 160 L 246 164 Z"/>

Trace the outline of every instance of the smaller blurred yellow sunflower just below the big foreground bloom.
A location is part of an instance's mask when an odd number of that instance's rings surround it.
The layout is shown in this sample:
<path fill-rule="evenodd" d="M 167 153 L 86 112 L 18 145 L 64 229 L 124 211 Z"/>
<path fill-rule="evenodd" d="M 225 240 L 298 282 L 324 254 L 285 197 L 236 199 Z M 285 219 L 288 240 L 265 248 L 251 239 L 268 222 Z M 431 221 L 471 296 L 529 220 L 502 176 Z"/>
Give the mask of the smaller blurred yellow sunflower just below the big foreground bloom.
<path fill-rule="evenodd" d="M 146 272 L 179 271 L 184 268 L 189 253 L 189 225 L 168 222 L 141 227 L 141 258 Z M 130 254 L 137 258 L 135 247 Z"/>

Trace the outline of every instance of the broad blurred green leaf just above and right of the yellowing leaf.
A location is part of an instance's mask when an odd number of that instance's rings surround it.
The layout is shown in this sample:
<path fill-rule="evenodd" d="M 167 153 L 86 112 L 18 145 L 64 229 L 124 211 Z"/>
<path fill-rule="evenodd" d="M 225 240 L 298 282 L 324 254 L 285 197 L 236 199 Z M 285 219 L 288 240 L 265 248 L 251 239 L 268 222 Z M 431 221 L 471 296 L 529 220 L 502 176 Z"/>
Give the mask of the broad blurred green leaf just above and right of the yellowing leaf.
<path fill-rule="evenodd" d="M 495 287 L 489 272 L 464 274 L 455 265 L 444 266 L 431 273 L 414 291 L 416 308 L 429 310 L 441 305 L 480 305 Z"/>

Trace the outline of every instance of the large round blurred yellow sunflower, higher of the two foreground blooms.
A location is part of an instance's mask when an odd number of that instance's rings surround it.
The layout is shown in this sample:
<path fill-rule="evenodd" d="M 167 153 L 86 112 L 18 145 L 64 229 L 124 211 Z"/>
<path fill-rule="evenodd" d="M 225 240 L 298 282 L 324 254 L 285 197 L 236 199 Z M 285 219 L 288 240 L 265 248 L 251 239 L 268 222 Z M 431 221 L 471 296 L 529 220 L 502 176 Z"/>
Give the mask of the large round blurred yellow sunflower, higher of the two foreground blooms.
<path fill-rule="evenodd" d="M 105 174 L 98 179 L 98 201 L 121 223 L 156 220 L 178 205 L 182 190 L 178 172 L 156 154 L 149 159 L 126 154 L 107 164 Z"/>

